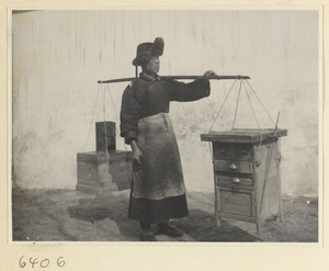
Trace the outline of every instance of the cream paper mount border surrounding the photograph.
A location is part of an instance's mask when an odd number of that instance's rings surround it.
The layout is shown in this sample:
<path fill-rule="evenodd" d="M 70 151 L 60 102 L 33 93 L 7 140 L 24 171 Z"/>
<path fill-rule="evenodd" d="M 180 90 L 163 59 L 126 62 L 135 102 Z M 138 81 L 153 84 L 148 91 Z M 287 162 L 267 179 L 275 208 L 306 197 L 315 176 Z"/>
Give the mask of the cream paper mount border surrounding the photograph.
<path fill-rule="evenodd" d="M 37 1 L 35 1 L 37 2 Z M 75 3 L 73 5 L 77 4 L 77 7 L 72 8 L 70 7 L 69 9 L 105 9 L 106 1 L 100 1 L 104 2 L 104 5 L 95 5 L 94 8 L 91 8 L 90 4 L 86 4 L 83 7 L 83 3 L 79 3 L 78 1 L 71 1 Z M 162 1 L 164 2 L 164 1 Z M 218 1 L 213 1 L 212 4 L 216 5 L 215 2 Z M 220 1 L 223 2 L 223 1 Z M 265 2 L 265 1 L 264 1 Z M 300 1 L 302 2 L 302 1 Z M 67 3 L 67 1 L 66 1 Z M 170 3 L 170 2 L 169 2 Z M 30 3 L 32 4 L 32 3 Z M 81 4 L 81 5 L 80 5 Z M 191 4 L 189 2 L 189 4 Z M 189 7 L 188 9 L 198 9 L 196 4 L 193 5 L 193 3 Z M 214 8 L 214 5 L 209 4 L 206 8 Z M 37 4 L 31 5 L 31 8 L 35 9 Z M 168 7 L 168 9 L 186 9 L 186 7 L 178 7 L 174 8 L 173 5 Z M 157 270 L 167 270 L 163 267 L 168 264 L 168 257 L 171 257 L 174 259 L 174 261 L 178 263 L 178 269 L 180 270 L 198 270 L 198 268 L 203 268 L 205 270 L 212 270 L 214 267 L 218 267 L 222 270 L 232 270 L 232 269 L 243 269 L 247 268 L 252 268 L 252 267 L 264 267 L 270 263 L 273 263 L 275 260 L 281 259 L 282 261 L 286 261 L 286 266 L 282 266 L 282 263 L 277 262 L 277 269 L 279 270 L 309 270 L 311 268 L 318 268 L 317 270 L 325 270 L 326 264 L 328 263 L 326 260 L 326 256 L 328 257 L 328 247 L 326 245 L 326 225 L 327 225 L 327 217 L 325 216 L 325 208 L 326 208 L 326 193 L 325 193 L 325 184 L 324 184 L 324 179 L 325 174 L 325 167 L 324 167 L 324 161 L 325 161 L 325 156 L 327 154 L 326 146 L 325 146 L 325 134 L 326 134 L 326 105 L 327 102 L 325 92 L 322 92 L 324 86 L 326 86 L 326 77 L 325 77 L 325 71 L 319 72 L 319 92 L 318 92 L 318 105 L 319 105 L 319 112 L 318 112 L 318 124 L 319 124 L 319 135 L 318 135 L 318 143 L 319 143 L 319 160 L 318 160 L 318 173 L 319 173 L 319 181 L 318 181 L 318 187 L 319 187 L 319 241 L 317 244 L 204 244 L 204 242 L 180 242 L 180 244 L 168 244 L 168 242 L 162 242 L 162 244 L 147 244 L 147 245 L 141 245 L 140 242 L 37 242 L 37 245 L 42 246 L 31 246 L 33 242 L 11 242 L 10 235 L 11 230 L 10 228 L 12 227 L 11 224 L 11 212 L 9 206 L 11 206 L 11 151 L 12 151 L 12 146 L 10 144 L 10 138 L 11 138 L 11 60 L 12 60 L 12 55 L 11 55 L 11 49 L 12 48 L 12 43 L 10 38 L 10 12 L 12 10 L 18 10 L 18 9 L 26 9 L 30 10 L 30 8 L 24 7 L 24 8 L 13 8 L 10 7 L 8 3 L 4 7 L 1 7 L 2 12 L 5 9 L 7 10 L 7 15 L 8 15 L 8 21 L 3 24 L 5 25 L 5 36 L 7 41 L 1 43 L 1 48 L 4 48 L 7 57 L 2 53 L 3 49 L 1 50 L 1 57 L 4 59 L 7 58 L 8 65 L 5 67 L 3 66 L 3 61 L 1 64 L 1 71 L 2 75 L 8 75 L 7 78 L 1 79 L 1 87 L 5 86 L 4 89 L 5 91 L 0 92 L 0 100 L 1 100 L 1 115 L 7 116 L 4 120 L 1 120 L 1 138 L 5 138 L 7 140 L 7 154 L 2 154 L 1 151 L 1 165 L 5 165 L 7 167 L 7 172 L 5 176 L 7 178 L 2 183 L 5 183 L 5 190 L 2 189 L 1 191 L 1 211 L 2 214 L 5 214 L 5 224 L 2 222 L 1 223 L 1 237 L 0 237 L 0 247 L 2 251 L 2 247 L 4 248 L 4 252 L 0 252 L 0 256 L 3 257 L 3 259 L 0 258 L 0 261 L 5 261 L 4 264 L 8 264 L 8 270 L 18 268 L 18 262 L 20 260 L 20 257 L 23 255 L 30 255 L 31 257 L 35 257 L 38 259 L 50 259 L 52 260 L 58 260 L 60 257 L 63 259 L 66 259 L 67 266 L 66 270 L 71 270 L 71 269 L 79 269 L 79 270 L 90 270 L 90 268 L 95 268 L 95 270 L 107 270 L 106 268 L 110 267 L 115 268 L 115 270 L 127 270 L 129 267 L 132 268 L 132 263 L 136 263 L 134 266 L 134 270 L 147 270 L 144 268 L 151 268 L 152 264 L 159 264 L 159 269 Z M 140 5 L 141 9 L 157 9 L 159 7 L 145 7 Z M 134 5 L 132 9 L 140 9 L 136 5 Z M 327 16 L 325 13 L 325 5 L 322 4 L 317 4 L 317 5 L 254 5 L 254 4 L 248 4 L 246 5 L 225 5 L 225 7 L 217 7 L 216 8 L 223 8 L 223 9 L 318 9 L 319 10 L 319 52 L 324 54 L 325 57 L 327 57 L 326 53 L 326 46 L 324 44 L 325 37 L 327 36 L 325 31 L 327 30 L 325 24 L 327 24 Z M 65 7 L 65 2 L 63 1 L 63 5 L 60 8 L 55 8 L 55 7 L 47 7 L 47 8 L 42 8 L 42 9 L 68 9 L 68 7 Z M 131 5 L 127 4 L 126 7 L 107 7 L 106 9 L 131 9 Z M 321 12 L 322 11 L 322 12 Z M 328 11 L 327 11 L 328 12 Z M 1 22 L 3 22 L 1 18 Z M 324 24 L 321 23 L 324 22 Z M 322 36 L 321 33 L 325 33 Z M 3 33 L 1 32 L 2 36 Z M 324 70 L 327 59 L 325 57 L 320 57 L 319 61 L 319 71 Z M 324 63 L 321 61 L 324 59 Z M 1 88 L 3 89 L 3 88 Z M 4 103 L 3 103 L 3 99 Z M 2 106 L 2 104 L 4 106 Z M 7 112 L 3 111 L 4 114 L 2 114 L 2 109 L 5 109 Z M 2 127 L 2 124 L 5 124 Z M 4 136 L 3 136 L 4 135 Z M 2 145 L 2 139 L 1 139 L 1 145 Z M 2 149 L 2 148 L 1 148 Z M 5 151 L 4 151 L 5 153 Z M 3 159 L 4 158 L 4 159 Z M 3 159 L 3 160 L 2 160 Z M 4 162 L 2 162 L 4 161 Z M 2 166 L 3 167 L 3 166 Z M 2 180 L 2 174 L 1 174 L 1 180 Z M 7 180 L 7 181 L 5 181 Z M 3 191 L 5 193 L 3 193 Z M 9 199 L 10 197 L 10 199 Z M 5 203 L 5 204 L 2 204 Z M 3 219 L 2 219 L 3 221 Z M 5 237 L 3 233 L 7 233 Z M 26 246 L 26 244 L 29 244 Z M 67 246 L 69 245 L 69 246 Z M 90 247 L 92 248 L 92 252 L 90 252 Z M 184 249 L 183 253 L 181 252 L 181 249 Z M 202 251 L 200 251 L 200 249 Z M 91 259 L 84 259 L 81 256 L 90 253 Z M 111 257 L 107 257 L 107 255 L 111 255 Z M 149 263 L 145 262 L 145 255 L 150 257 L 151 260 Z M 178 257 L 180 256 L 180 258 Z M 209 255 L 212 256 L 209 259 Z M 241 261 L 240 262 L 235 262 L 236 261 L 236 256 L 241 255 Z M 252 257 L 256 255 L 261 255 L 262 257 L 259 257 L 256 262 L 252 262 Z M 166 256 L 166 257 L 163 257 Z M 311 262 L 310 256 L 313 256 L 314 261 Z M 273 257 L 273 258 L 272 258 Z M 111 258 L 109 260 L 109 258 Z M 308 260 L 307 260 L 308 259 Z M 299 260 L 299 262 L 294 262 L 296 260 Z M 110 263 L 109 263 L 110 261 Z M 232 266 L 228 267 L 231 263 Z M 113 264 L 113 266 L 112 266 Z M 1 266 L 1 262 L 0 262 Z M 68 269 L 70 267 L 70 269 Z M 136 269 L 135 269 L 136 268 Z M 171 267 L 172 268 L 172 267 Z M 195 269 L 196 268 L 196 269 Z M 29 269 L 25 269 L 29 270 Z M 50 270 L 50 269 L 49 269 Z M 56 269 L 54 269 L 56 270 Z M 60 269 L 59 269 L 60 270 Z M 65 268 L 64 268 L 65 270 Z M 246 269 L 243 269 L 246 270 Z"/>

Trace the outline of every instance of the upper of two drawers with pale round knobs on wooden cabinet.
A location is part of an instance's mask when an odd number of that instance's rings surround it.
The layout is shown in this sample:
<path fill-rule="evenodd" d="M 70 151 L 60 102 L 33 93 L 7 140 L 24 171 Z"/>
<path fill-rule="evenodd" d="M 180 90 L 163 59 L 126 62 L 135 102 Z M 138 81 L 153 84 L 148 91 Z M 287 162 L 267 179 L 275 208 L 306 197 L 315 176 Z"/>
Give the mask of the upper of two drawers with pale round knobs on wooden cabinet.
<path fill-rule="evenodd" d="M 252 173 L 252 162 L 250 161 L 231 161 L 231 160 L 214 160 L 215 171 Z"/>

